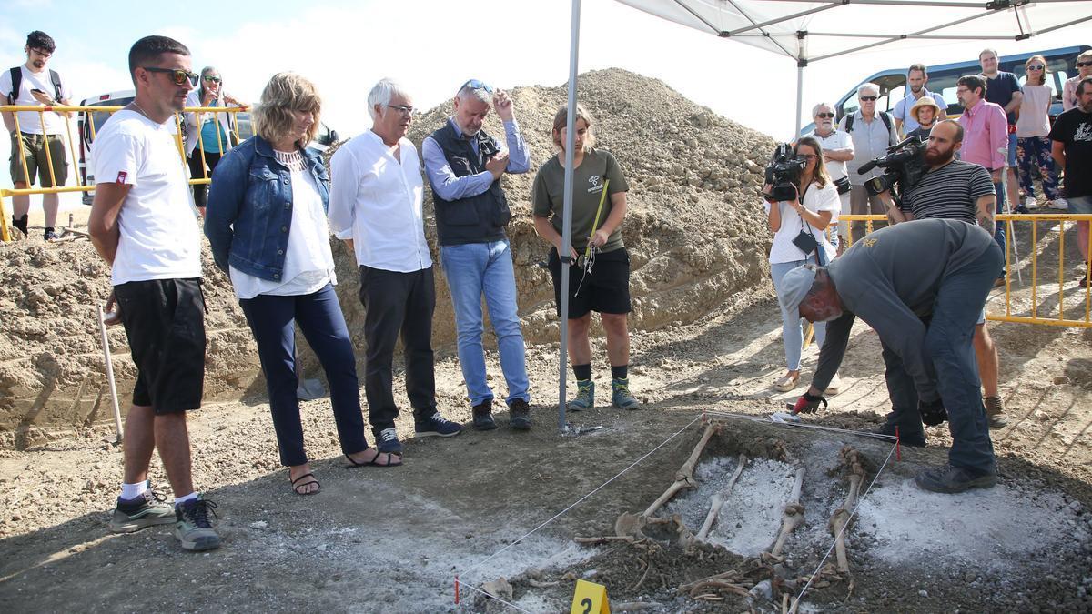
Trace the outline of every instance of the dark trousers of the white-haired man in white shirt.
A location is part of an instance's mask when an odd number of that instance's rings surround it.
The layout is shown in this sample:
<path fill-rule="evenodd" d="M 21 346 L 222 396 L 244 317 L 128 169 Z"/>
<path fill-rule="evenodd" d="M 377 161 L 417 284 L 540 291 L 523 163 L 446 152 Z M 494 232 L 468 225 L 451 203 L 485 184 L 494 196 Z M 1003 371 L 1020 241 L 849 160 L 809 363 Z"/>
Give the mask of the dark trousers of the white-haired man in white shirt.
<path fill-rule="evenodd" d="M 414 416 L 436 413 L 436 377 L 432 370 L 432 310 L 436 286 L 432 268 L 400 273 L 360 267 L 360 303 L 364 305 L 364 393 L 368 400 L 371 430 L 378 436 L 394 426 L 394 345 L 402 334 L 405 354 L 406 394 Z"/>

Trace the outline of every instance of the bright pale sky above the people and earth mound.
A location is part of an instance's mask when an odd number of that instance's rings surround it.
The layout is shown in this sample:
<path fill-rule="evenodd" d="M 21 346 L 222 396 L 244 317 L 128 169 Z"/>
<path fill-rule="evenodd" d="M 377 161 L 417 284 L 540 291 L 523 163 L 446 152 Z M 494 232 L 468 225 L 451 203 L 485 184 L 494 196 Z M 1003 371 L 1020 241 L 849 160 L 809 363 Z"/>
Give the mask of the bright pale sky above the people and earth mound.
<path fill-rule="evenodd" d="M 257 98 L 277 71 L 308 76 L 323 95 L 323 119 L 343 137 L 370 126 L 360 103 L 383 76 L 402 82 L 415 106 L 424 108 L 449 98 L 471 76 L 500 87 L 556 86 L 568 79 L 569 0 L 214 0 L 171 3 L 170 9 L 110 0 L 4 4 L 0 66 L 22 63 L 26 33 L 43 29 L 57 40 L 50 68 L 78 98 L 130 88 L 130 45 L 164 34 L 193 51 L 194 69 L 219 68 L 226 90 L 240 99 Z M 1077 26 L 997 47 L 1005 55 L 1075 45 L 1081 43 L 1080 32 Z M 934 43 L 814 63 L 805 71 L 805 115 L 814 102 L 838 98 L 875 71 L 913 61 L 974 59 L 981 46 Z M 791 60 L 614 0 L 583 0 L 580 70 L 608 67 L 661 79 L 695 102 L 776 138 L 793 131 L 796 68 Z"/>

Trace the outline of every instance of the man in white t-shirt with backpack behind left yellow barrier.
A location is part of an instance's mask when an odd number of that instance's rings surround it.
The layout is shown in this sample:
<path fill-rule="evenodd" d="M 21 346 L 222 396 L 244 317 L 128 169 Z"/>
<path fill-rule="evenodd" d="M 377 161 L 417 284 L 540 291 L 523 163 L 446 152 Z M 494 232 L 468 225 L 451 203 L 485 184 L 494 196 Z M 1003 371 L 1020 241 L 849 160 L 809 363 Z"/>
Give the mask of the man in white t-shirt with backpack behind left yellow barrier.
<path fill-rule="evenodd" d="M 57 45 L 45 32 L 35 29 L 26 35 L 26 62 L 0 73 L 0 101 L 5 105 L 49 106 L 69 104 L 68 87 L 56 71 L 47 69 Z M 64 114 L 68 115 L 68 114 Z M 17 122 L 16 122 L 17 116 Z M 45 119 L 45 126 L 43 126 Z M 43 188 L 63 186 L 68 178 L 64 154 L 64 119 L 55 111 L 4 113 L 3 125 L 11 134 L 11 180 L 16 190 L 25 190 L 40 176 Z M 41 194 L 46 214 L 46 240 L 57 238 L 58 194 Z M 27 234 L 31 197 L 12 197 L 12 226 Z"/>

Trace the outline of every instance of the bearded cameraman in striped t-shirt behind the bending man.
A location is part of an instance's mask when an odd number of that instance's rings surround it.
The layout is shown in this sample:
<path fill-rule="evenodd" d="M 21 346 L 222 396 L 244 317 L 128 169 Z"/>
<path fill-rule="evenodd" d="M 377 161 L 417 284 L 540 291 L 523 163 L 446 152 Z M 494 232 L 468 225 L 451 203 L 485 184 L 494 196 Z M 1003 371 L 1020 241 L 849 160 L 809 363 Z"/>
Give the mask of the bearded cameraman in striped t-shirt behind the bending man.
<path fill-rule="evenodd" d="M 891 197 L 890 190 L 879 193 L 887 204 L 887 216 L 892 224 L 910 220 L 945 219 L 977 224 L 994 234 L 996 192 L 988 170 L 978 164 L 956 160 L 956 152 L 963 146 L 963 127 L 947 119 L 933 127 L 925 149 L 925 174 L 913 186 L 902 186 L 902 202 Z M 974 327 L 974 353 L 978 374 L 985 388 L 986 418 L 990 428 L 1007 424 L 1005 404 L 997 392 L 997 346 L 986 331 L 983 311 Z"/>

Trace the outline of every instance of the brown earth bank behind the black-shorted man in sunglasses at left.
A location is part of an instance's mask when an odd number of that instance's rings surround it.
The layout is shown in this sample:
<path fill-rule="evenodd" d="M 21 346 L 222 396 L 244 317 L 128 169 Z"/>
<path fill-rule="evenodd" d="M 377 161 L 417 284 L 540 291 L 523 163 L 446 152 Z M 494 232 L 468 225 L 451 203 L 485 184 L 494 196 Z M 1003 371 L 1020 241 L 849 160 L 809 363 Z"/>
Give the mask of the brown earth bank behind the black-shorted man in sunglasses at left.
<path fill-rule="evenodd" d="M 110 293 L 110 268 L 88 240 L 0 244 L 0 449 L 110 420 L 96 311 Z M 260 374 L 253 338 L 207 245 L 202 260 L 205 399 L 239 398 Z M 124 412 L 135 367 L 121 327 L 107 334 Z"/>

